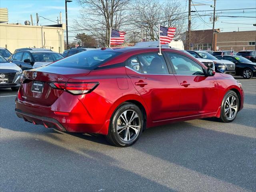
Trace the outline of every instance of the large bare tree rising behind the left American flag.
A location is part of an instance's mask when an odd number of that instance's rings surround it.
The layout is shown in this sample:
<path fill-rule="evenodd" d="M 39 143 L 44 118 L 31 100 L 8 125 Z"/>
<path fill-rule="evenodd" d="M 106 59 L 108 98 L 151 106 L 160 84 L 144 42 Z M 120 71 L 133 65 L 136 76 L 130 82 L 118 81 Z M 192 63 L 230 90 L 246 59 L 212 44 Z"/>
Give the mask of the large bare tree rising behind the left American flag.
<path fill-rule="evenodd" d="M 82 7 L 77 29 L 92 34 L 99 43 L 109 44 L 110 27 L 119 29 L 130 0 L 77 0 Z"/>

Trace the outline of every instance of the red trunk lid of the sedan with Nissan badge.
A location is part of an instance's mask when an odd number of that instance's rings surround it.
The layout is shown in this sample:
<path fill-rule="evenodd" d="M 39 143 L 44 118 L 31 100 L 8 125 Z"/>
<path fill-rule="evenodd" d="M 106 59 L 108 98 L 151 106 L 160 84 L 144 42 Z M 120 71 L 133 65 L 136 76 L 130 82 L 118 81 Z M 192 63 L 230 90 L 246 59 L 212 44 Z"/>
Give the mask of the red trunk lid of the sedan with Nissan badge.
<path fill-rule="evenodd" d="M 39 104 L 42 106 L 51 106 L 64 90 L 53 89 L 49 82 L 68 82 L 70 78 L 86 76 L 90 70 L 63 68 L 63 67 L 43 67 L 23 72 L 24 83 L 21 84 L 20 94 L 23 100 Z M 32 92 L 34 81 L 42 82 L 42 92 Z"/>

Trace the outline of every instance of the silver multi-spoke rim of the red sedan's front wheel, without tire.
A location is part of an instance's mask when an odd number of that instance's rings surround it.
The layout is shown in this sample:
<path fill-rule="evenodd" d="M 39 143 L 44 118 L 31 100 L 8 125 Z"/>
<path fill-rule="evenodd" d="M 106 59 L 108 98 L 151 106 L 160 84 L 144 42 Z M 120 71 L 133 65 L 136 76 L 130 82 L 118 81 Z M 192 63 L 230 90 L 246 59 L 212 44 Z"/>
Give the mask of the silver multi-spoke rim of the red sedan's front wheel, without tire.
<path fill-rule="evenodd" d="M 238 104 L 236 97 L 230 95 L 225 102 L 225 115 L 228 119 L 233 119 L 236 116 Z"/>

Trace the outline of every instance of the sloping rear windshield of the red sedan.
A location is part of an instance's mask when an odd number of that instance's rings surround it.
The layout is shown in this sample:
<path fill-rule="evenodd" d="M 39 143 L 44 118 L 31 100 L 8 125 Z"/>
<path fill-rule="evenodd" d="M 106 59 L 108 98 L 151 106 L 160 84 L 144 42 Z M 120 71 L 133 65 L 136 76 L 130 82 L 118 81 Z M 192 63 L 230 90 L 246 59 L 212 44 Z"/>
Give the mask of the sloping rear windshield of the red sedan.
<path fill-rule="evenodd" d="M 107 60 L 118 56 L 119 54 L 121 53 L 106 50 L 83 51 L 50 64 L 49 66 L 92 70 Z"/>

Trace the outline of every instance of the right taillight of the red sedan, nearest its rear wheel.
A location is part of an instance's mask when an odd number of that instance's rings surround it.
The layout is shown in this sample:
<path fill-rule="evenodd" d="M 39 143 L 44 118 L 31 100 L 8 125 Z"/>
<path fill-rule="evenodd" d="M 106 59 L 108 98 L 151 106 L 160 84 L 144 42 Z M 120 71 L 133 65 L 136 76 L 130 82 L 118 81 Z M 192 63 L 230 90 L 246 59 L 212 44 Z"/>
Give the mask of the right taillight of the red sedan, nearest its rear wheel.
<path fill-rule="evenodd" d="M 52 82 L 49 85 L 54 89 L 61 89 L 74 95 L 81 95 L 92 92 L 98 85 L 98 82 Z"/>

